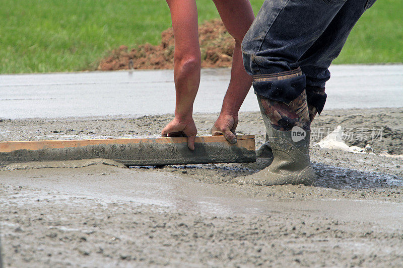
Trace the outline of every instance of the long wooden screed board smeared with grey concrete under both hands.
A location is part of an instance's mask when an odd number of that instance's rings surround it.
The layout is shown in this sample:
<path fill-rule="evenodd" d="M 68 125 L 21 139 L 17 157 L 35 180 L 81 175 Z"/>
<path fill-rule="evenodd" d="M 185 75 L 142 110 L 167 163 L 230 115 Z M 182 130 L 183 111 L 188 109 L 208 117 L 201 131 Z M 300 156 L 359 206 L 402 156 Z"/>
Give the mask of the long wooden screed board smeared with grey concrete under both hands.
<path fill-rule="evenodd" d="M 199 136 L 195 150 L 185 137 L 0 142 L 0 165 L 12 162 L 107 158 L 125 165 L 254 162 L 253 135 Z"/>

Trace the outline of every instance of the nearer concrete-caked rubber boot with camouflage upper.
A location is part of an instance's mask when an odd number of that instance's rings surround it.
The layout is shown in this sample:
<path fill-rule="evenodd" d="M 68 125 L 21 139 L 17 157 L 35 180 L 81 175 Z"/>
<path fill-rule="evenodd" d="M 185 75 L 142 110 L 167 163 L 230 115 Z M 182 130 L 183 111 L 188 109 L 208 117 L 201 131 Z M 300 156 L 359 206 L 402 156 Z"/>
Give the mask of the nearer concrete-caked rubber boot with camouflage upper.
<path fill-rule="evenodd" d="M 299 69 L 291 74 L 290 72 L 278 73 L 259 76 L 257 79 L 265 82 L 285 79 L 298 81 L 293 79 L 299 78 L 298 76 L 302 76 Z M 294 84 L 298 83 L 294 82 Z M 305 87 L 305 84 L 303 86 Z M 287 90 L 286 86 L 283 87 Z M 278 90 L 281 87 L 272 86 L 272 88 Z M 296 94 L 299 95 L 294 98 Z M 294 93 L 289 94 L 288 97 L 293 98 L 291 101 L 268 99 L 266 96 L 259 95 L 259 92 L 256 95 L 274 158 L 271 165 L 263 170 L 249 176 L 237 177 L 235 181 L 262 186 L 311 185 L 315 180 L 315 173 L 309 159 L 310 119 L 305 90 L 302 89 L 302 92 L 295 90 Z"/>

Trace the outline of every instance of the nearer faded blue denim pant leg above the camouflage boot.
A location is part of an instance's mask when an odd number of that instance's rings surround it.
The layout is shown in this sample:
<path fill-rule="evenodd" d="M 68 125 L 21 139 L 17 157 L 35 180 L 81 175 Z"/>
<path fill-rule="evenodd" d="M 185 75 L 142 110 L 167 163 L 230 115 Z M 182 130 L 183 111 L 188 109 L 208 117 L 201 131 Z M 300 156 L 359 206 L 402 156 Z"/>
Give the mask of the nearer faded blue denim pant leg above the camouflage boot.
<path fill-rule="evenodd" d="M 256 75 L 291 70 L 345 2 L 266 0 L 242 42 L 246 71 Z"/>

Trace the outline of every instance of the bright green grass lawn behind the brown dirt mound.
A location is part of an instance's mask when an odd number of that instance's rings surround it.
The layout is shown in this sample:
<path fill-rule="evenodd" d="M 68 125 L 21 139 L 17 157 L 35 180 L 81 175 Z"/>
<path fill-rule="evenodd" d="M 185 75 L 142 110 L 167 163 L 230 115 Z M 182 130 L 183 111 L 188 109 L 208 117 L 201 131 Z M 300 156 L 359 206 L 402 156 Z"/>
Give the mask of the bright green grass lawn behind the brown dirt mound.
<path fill-rule="evenodd" d="M 263 0 L 251 2 L 256 13 Z M 218 18 L 211 0 L 197 5 L 199 22 Z M 111 49 L 158 44 L 171 26 L 163 0 L 0 0 L 0 6 L 0 73 L 95 69 Z M 375 3 L 335 63 L 403 62 L 402 10 L 401 0 Z"/>

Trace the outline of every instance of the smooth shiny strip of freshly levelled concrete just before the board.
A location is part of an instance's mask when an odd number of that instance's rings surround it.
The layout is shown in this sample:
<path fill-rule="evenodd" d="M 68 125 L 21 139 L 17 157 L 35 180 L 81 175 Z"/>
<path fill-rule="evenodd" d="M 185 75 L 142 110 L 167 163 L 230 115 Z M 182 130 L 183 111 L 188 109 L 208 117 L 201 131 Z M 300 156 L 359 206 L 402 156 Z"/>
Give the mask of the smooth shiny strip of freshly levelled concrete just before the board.
<path fill-rule="evenodd" d="M 298 200 L 296 206 L 293 199 L 276 200 L 267 198 L 264 193 L 255 194 L 254 189 L 261 189 L 258 186 L 206 184 L 166 170 L 127 169 L 96 164 L 79 169 L 15 170 L 0 174 L 3 176 L 3 185 L 35 189 L 43 193 L 35 195 L 35 199 L 21 195 L 19 200 L 13 201 L 21 204 L 35 204 L 37 199 L 53 203 L 54 199 L 49 193 L 57 193 L 57 197 L 74 196 L 101 204 L 156 205 L 156 209 L 201 213 L 207 217 L 258 216 L 288 211 L 331 217 L 335 221 L 356 222 L 365 219 L 383 228 L 403 226 L 403 203 L 308 198 Z M 96 180 L 93 180 L 95 177 Z M 302 186 L 291 186 L 291 189 L 293 192 L 307 194 L 311 191 L 309 187 Z"/>

